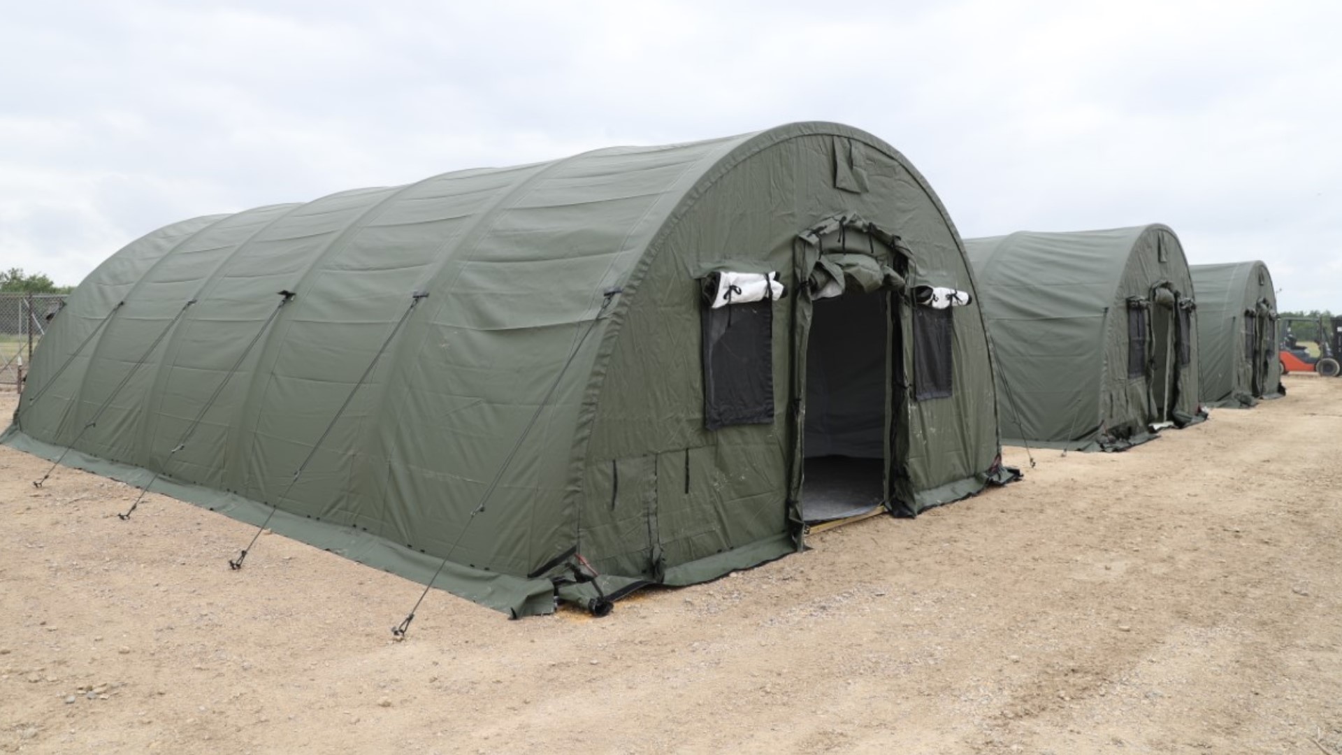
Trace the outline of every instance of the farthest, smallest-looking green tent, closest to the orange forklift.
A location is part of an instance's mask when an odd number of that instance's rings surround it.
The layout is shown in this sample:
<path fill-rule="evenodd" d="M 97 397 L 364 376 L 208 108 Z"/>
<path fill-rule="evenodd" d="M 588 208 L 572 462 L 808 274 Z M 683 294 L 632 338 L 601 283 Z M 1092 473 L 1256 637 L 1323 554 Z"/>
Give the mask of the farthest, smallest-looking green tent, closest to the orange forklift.
<path fill-rule="evenodd" d="M 1286 395 L 1278 359 L 1276 293 L 1261 262 L 1193 265 L 1202 403 L 1251 407 Z"/>

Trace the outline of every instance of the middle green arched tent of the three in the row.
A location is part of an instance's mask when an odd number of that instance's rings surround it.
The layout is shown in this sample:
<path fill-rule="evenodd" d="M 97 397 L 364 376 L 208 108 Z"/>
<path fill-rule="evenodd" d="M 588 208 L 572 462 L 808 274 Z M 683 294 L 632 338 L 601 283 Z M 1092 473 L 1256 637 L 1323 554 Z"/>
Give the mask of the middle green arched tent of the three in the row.
<path fill-rule="evenodd" d="M 1002 438 L 1123 450 L 1198 406 L 1193 282 L 1161 224 L 966 239 Z"/>

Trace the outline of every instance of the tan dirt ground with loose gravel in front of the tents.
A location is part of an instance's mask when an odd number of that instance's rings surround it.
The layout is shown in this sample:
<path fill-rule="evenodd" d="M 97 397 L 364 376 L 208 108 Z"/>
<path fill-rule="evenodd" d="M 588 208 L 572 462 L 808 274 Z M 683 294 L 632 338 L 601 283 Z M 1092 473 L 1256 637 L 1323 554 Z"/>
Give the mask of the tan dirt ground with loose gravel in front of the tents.
<path fill-rule="evenodd" d="M 251 527 L 0 447 L 0 751 L 1342 754 L 1342 380 L 1287 387 L 603 619 L 435 590 L 401 643 L 419 584 L 229 571 Z"/>

